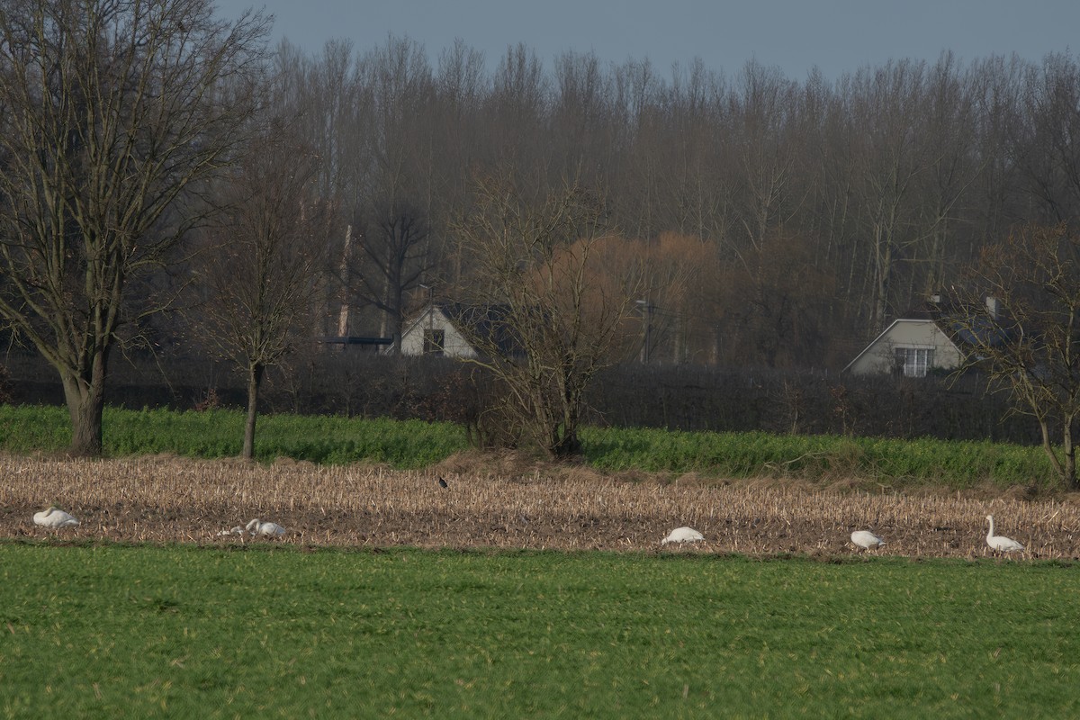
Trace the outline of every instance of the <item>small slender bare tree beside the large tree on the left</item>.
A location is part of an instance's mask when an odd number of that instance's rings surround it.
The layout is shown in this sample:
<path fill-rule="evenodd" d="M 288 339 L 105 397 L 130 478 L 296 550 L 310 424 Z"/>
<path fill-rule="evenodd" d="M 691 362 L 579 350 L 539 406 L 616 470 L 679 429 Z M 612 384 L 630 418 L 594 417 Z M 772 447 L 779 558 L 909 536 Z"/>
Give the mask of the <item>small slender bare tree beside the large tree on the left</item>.
<path fill-rule="evenodd" d="M 230 202 L 197 261 L 206 295 L 197 323 L 205 341 L 232 361 L 247 385 L 242 454 L 255 453 L 258 394 L 266 370 L 297 337 L 310 340 L 320 293 L 325 206 L 308 193 L 314 157 L 273 123 L 224 190 Z"/>

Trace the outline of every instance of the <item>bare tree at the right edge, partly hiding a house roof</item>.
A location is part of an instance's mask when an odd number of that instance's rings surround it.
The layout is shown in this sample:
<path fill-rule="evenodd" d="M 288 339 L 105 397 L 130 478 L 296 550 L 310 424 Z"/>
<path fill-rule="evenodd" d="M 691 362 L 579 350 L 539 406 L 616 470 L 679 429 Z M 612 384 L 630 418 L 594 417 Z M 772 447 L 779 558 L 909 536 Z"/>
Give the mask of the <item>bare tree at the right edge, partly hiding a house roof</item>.
<path fill-rule="evenodd" d="M 1029 226 L 984 248 L 951 321 L 1015 412 L 1039 423 L 1042 447 L 1070 490 L 1080 418 L 1080 235 L 1064 223 Z M 983 302 L 982 295 L 988 294 Z M 1061 434 L 1059 444 L 1053 436 Z"/>

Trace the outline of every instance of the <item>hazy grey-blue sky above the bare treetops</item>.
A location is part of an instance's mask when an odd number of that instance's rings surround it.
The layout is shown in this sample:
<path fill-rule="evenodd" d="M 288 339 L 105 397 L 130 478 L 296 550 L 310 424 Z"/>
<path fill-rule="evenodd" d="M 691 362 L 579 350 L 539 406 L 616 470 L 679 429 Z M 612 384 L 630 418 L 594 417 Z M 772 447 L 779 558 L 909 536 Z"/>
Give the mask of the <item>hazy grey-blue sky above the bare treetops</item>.
<path fill-rule="evenodd" d="M 793 80 L 818 66 L 829 79 L 890 58 L 934 60 L 951 50 L 969 62 L 991 54 L 1038 62 L 1080 45 L 1080 0 L 218 0 L 235 16 L 248 6 L 275 16 L 274 38 L 308 52 L 352 40 L 357 53 L 387 37 L 421 43 L 429 59 L 455 39 L 494 67 L 524 42 L 551 67 L 568 50 L 604 62 L 673 63 L 701 57 L 738 72 L 748 59 Z"/>

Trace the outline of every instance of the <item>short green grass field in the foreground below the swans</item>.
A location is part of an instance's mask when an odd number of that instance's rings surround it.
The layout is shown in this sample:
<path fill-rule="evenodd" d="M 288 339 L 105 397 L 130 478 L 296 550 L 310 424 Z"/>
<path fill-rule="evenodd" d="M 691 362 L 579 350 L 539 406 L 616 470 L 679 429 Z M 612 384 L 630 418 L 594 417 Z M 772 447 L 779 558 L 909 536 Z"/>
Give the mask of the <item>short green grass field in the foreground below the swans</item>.
<path fill-rule="evenodd" d="M 0 714 L 1078 717 L 1075 568 L 0 544 Z"/>

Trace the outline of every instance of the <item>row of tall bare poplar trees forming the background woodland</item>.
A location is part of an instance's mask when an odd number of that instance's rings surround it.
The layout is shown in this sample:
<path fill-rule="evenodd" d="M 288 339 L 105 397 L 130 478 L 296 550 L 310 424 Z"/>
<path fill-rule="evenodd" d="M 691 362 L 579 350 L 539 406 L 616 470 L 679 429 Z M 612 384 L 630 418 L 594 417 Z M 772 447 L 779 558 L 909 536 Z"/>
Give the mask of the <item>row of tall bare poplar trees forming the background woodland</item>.
<path fill-rule="evenodd" d="M 651 270 L 650 362 L 843 367 L 983 245 L 1080 209 L 1068 53 L 792 79 L 390 38 L 284 43 L 275 82 L 333 205 L 329 335 L 395 337 L 468 283 L 449 228 L 492 167 L 537 193 L 567 176 L 603 189 Z"/>

